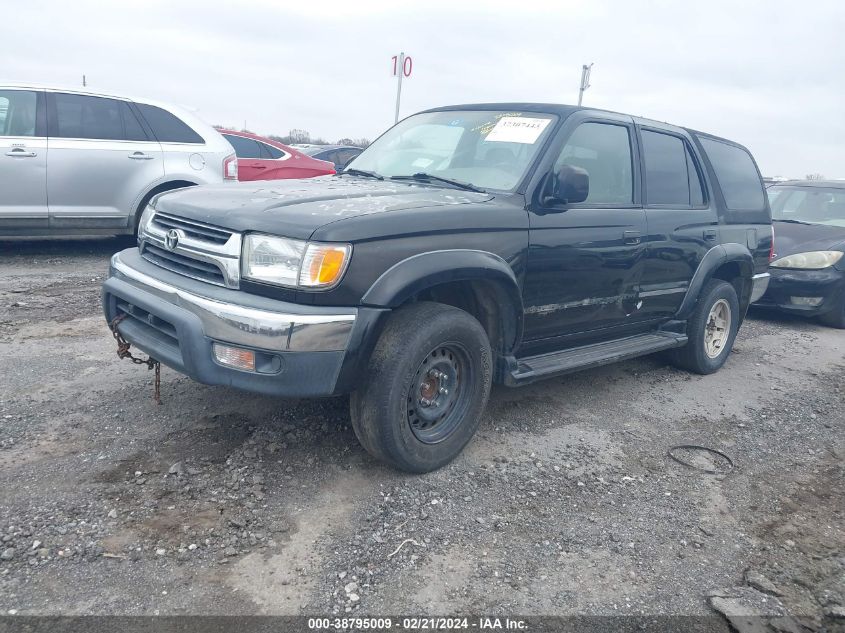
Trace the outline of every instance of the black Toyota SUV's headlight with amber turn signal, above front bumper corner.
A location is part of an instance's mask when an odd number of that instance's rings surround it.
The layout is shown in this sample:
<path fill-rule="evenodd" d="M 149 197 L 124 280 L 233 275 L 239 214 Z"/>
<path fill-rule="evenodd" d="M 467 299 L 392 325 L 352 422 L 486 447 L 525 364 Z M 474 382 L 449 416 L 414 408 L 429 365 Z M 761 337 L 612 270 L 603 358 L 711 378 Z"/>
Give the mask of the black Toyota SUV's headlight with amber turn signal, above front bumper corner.
<path fill-rule="evenodd" d="M 340 281 L 350 244 L 318 244 L 260 233 L 244 238 L 243 276 L 292 288 L 329 288 Z"/>

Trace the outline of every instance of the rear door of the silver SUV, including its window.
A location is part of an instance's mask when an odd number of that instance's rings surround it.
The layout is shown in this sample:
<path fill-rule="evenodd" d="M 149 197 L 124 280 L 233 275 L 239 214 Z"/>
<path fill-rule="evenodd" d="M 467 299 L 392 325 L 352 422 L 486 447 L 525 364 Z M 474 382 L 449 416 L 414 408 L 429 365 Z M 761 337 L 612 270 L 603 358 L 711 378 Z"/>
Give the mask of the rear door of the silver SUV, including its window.
<path fill-rule="evenodd" d="M 127 228 L 164 176 L 161 146 L 128 101 L 48 92 L 50 227 Z"/>

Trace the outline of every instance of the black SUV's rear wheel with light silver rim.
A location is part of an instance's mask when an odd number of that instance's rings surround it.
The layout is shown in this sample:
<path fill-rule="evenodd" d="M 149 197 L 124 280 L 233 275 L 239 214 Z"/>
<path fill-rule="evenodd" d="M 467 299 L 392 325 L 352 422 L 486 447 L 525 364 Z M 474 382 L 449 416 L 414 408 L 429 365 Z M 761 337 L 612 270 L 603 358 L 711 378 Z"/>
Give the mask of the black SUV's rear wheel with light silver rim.
<path fill-rule="evenodd" d="M 727 324 L 720 337 L 719 330 L 713 327 L 723 321 L 725 314 Z M 730 356 L 740 320 L 739 300 L 734 287 L 721 279 L 711 279 L 701 289 L 695 312 L 687 322 L 687 344 L 672 350 L 670 360 L 682 369 L 697 374 L 712 374 Z"/>

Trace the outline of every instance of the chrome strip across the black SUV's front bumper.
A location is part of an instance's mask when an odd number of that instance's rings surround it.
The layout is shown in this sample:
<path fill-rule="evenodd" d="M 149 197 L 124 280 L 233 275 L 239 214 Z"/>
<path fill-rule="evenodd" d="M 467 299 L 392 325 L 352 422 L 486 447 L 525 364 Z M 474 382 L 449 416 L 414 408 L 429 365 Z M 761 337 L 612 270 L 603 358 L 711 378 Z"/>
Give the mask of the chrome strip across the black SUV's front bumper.
<path fill-rule="evenodd" d="M 172 278 L 173 275 L 162 271 L 160 276 Z M 203 296 L 137 270 L 121 259 L 121 253 L 112 256 L 111 276 L 192 313 L 199 319 L 208 338 L 257 349 L 343 351 L 347 348 L 357 316 L 354 308 L 328 311 L 300 307 L 217 287 L 209 288 L 206 293 L 211 295 L 213 290 L 215 296 Z M 208 285 L 185 281 L 185 285 Z M 245 305 L 245 299 L 254 299 L 254 302 L 261 303 L 261 307 Z"/>

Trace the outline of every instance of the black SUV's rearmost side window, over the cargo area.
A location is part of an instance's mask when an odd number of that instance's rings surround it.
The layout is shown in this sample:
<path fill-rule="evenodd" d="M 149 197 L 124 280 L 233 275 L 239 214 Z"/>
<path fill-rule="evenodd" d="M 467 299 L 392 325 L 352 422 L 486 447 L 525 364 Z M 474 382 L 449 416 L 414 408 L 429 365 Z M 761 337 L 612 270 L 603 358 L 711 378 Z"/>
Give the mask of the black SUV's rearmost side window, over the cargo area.
<path fill-rule="evenodd" d="M 763 182 L 751 155 L 735 145 L 707 137 L 698 137 L 707 152 L 725 204 L 731 211 L 764 211 L 766 196 Z"/>

